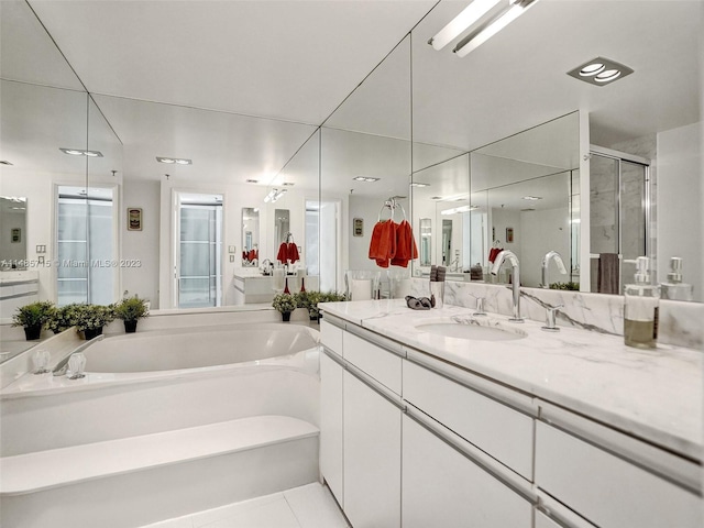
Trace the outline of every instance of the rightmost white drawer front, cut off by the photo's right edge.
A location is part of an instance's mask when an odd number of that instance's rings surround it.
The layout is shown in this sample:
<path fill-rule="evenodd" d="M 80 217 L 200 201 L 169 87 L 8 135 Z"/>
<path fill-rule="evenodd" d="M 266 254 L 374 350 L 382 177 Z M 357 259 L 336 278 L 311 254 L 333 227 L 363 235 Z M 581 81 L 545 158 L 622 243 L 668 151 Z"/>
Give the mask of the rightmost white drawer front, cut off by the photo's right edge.
<path fill-rule="evenodd" d="M 601 528 L 702 526 L 695 494 L 542 422 L 536 431 L 536 482 Z"/>

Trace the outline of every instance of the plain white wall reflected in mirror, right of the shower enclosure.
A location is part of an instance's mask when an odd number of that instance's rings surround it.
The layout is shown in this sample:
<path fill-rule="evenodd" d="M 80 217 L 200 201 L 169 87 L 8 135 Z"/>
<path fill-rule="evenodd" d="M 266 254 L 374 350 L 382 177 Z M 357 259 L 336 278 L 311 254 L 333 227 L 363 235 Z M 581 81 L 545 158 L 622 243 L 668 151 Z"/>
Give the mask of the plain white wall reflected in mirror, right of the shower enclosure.
<path fill-rule="evenodd" d="M 704 300 L 702 245 L 702 123 L 658 134 L 658 280 L 664 282 L 671 256 L 684 260 L 684 282 Z"/>

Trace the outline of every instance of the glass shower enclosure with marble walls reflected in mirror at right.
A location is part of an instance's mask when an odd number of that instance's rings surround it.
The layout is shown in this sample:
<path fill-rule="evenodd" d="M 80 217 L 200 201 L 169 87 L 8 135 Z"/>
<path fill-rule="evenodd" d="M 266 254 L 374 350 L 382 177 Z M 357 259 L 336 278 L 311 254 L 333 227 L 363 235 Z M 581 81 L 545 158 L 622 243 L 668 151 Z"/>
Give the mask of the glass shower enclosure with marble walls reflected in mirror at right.
<path fill-rule="evenodd" d="M 590 165 L 592 292 L 622 294 L 624 285 L 632 282 L 636 257 L 654 255 L 650 240 L 650 161 L 592 145 Z M 609 255 L 617 255 L 612 257 L 617 258 L 617 266 L 605 264 Z M 600 265 L 603 274 L 614 275 L 614 290 L 600 288 Z M 654 270 L 651 274 L 654 276 Z"/>

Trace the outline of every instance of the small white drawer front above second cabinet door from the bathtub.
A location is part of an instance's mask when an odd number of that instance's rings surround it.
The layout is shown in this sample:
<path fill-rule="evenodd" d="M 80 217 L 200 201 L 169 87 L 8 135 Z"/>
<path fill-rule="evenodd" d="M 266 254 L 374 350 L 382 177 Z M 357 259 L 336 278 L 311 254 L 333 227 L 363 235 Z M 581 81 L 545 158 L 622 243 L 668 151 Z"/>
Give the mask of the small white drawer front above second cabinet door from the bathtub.
<path fill-rule="evenodd" d="M 343 356 L 358 369 L 385 385 L 396 394 L 400 394 L 400 356 L 370 343 L 350 332 L 343 332 Z"/>

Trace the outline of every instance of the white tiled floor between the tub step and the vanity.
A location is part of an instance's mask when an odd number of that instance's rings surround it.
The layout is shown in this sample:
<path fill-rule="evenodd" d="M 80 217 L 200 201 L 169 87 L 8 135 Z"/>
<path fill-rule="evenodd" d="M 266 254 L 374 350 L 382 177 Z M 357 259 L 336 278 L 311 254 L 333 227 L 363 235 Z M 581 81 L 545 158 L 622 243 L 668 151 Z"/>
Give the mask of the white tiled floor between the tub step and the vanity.
<path fill-rule="evenodd" d="M 330 491 L 308 484 L 143 528 L 349 528 Z"/>

